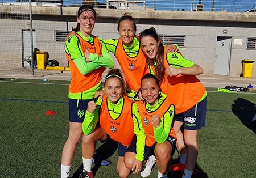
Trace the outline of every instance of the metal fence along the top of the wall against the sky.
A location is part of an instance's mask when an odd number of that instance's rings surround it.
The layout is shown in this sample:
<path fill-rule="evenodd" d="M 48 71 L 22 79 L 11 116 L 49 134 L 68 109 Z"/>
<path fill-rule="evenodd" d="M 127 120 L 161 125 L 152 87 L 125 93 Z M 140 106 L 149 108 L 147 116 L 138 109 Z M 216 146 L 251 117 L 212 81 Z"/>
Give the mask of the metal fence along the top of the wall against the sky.
<path fill-rule="evenodd" d="M 29 0 L 0 0 L 0 3 L 6 2 L 28 2 Z M 227 11 L 227 12 L 246 12 L 256 7 L 256 0 L 31 0 L 36 6 L 52 6 L 49 3 L 63 2 L 65 6 L 81 6 L 82 3 L 90 3 L 94 7 L 112 8 L 112 9 L 138 9 L 138 10 L 167 10 L 167 11 Z M 11 3 L 7 3 L 11 5 Z M 26 3 L 19 3 L 26 5 Z M 253 10 L 251 10 L 253 11 Z M 255 12 L 255 10 L 254 10 Z"/>

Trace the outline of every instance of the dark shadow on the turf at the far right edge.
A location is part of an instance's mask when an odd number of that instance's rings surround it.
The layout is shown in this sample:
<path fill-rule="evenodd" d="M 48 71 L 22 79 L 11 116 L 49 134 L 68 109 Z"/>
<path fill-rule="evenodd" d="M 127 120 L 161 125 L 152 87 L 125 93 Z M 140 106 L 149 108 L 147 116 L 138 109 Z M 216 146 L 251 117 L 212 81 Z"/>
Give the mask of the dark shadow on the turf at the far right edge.
<path fill-rule="evenodd" d="M 232 104 L 232 112 L 241 120 L 243 125 L 256 134 L 256 128 L 253 127 L 252 123 L 256 114 L 256 105 L 254 103 L 243 98 L 237 98 Z"/>

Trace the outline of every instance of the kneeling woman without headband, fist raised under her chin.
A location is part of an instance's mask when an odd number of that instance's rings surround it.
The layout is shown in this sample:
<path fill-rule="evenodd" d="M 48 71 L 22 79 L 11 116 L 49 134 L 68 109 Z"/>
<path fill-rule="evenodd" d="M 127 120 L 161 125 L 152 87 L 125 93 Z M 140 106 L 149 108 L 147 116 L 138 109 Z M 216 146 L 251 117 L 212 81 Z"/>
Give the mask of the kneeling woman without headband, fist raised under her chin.
<path fill-rule="evenodd" d="M 167 177 L 176 143 L 176 134 L 172 128 L 175 107 L 167 95 L 160 91 L 159 81 L 155 75 L 144 75 L 141 80 L 141 95 L 145 101 L 139 101 L 137 105 L 147 135 L 144 158 L 154 154 L 158 177 Z M 128 158 L 132 156 L 128 154 L 131 153 L 126 153 L 125 165 L 130 168 Z"/>

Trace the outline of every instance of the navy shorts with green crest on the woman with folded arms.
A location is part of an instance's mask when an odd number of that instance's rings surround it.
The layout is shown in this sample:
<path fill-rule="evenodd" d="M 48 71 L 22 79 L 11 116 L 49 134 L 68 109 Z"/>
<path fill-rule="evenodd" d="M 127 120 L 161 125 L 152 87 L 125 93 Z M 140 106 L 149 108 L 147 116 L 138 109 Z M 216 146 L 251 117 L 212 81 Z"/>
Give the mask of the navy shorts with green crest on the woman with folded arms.
<path fill-rule="evenodd" d="M 87 105 L 89 100 L 76 100 L 76 99 L 69 99 L 69 122 L 79 122 L 82 123 L 85 117 L 85 111 L 87 110 Z"/>

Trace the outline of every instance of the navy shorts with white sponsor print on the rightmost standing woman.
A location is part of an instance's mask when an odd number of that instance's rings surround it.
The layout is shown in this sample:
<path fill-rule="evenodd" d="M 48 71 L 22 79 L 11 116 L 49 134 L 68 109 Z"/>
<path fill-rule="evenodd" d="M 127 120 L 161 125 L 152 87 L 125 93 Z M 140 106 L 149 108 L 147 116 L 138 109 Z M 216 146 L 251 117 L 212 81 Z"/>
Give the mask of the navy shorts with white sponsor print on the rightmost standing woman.
<path fill-rule="evenodd" d="M 207 97 L 196 103 L 191 109 L 175 115 L 175 121 L 184 122 L 184 129 L 199 130 L 205 126 L 207 111 Z"/>

